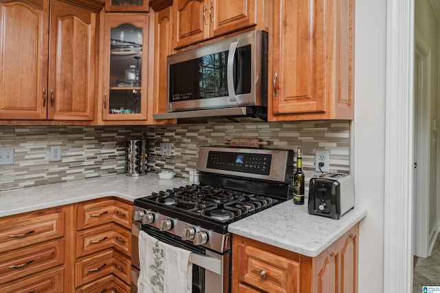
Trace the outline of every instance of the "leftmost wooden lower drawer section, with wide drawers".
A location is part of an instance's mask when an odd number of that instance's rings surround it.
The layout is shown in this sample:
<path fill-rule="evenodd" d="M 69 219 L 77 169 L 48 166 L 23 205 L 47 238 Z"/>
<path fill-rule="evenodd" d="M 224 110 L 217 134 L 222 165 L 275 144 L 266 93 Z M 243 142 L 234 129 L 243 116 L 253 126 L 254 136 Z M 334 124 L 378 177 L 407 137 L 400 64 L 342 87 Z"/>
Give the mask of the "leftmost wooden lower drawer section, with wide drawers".
<path fill-rule="evenodd" d="M 64 292 L 70 206 L 0 217 L 0 292 Z"/>

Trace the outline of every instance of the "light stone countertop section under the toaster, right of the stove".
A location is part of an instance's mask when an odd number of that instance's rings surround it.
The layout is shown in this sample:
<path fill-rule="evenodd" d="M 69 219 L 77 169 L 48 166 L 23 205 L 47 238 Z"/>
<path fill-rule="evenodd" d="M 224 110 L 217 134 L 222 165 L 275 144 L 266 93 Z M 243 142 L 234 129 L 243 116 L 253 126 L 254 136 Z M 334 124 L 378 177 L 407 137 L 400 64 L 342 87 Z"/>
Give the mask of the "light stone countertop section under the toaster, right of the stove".
<path fill-rule="evenodd" d="M 340 219 L 309 215 L 306 204 L 293 199 L 245 217 L 228 226 L 228 231 L 292 252 L 316 257 L 366 216 L 364 208 L 355 207 Z"/>

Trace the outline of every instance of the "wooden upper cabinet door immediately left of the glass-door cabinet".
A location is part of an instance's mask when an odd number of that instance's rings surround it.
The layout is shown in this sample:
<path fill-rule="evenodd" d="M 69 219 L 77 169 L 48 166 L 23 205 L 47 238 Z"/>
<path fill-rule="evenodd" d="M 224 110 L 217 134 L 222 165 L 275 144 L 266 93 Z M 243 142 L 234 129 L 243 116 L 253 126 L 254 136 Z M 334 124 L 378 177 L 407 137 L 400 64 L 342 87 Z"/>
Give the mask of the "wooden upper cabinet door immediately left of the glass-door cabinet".
<path fill-rule="evenodd" d="M 93 120 L 96 13 L 51 2 L 48 118 Z"/>

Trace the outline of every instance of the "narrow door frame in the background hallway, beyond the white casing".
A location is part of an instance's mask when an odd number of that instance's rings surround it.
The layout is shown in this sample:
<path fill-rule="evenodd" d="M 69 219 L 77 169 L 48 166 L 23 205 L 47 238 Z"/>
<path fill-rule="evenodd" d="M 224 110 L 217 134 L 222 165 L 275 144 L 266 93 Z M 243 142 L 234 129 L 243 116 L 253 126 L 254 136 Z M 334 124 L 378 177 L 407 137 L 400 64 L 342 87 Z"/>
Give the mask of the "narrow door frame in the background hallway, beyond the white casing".
<path fill-rule="evenodd" d="M 431 49 L 423 39 L 419 30 L 415 28 L 415 54 L 421 58 L 421 87 L 415 95 L 417 102 L 414 109 L 417 111 L 417 132 L 415 140 L 419 142 L 415 149 L 415 162 L 417 162 L 417 177 L 414 178 L 415 194 L 413 203 L 415 206 L 414 219 L 414 253 L 417 257 L 428 257 L 430 254 L 430 231 L 429 231 L 429 186 L 430 186 L 430 64 Z M 415 61 L 417 59 L 415 58 Z M 428 131 L 426 131 L 428 129 Z M 417 195 L 417 197 L 416 197 Z"/>

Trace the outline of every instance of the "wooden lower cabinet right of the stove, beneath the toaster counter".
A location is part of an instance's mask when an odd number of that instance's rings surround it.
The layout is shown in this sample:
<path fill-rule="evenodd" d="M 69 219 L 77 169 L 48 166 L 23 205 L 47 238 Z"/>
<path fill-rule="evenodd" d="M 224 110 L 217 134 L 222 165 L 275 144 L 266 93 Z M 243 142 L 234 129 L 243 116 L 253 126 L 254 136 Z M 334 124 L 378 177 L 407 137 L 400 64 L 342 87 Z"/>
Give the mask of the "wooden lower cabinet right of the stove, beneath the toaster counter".
<path fill-rule="evenodd" d="M 232 238 L 232 292 L 358 292 L 356 224 L 317 257 Z"/>

